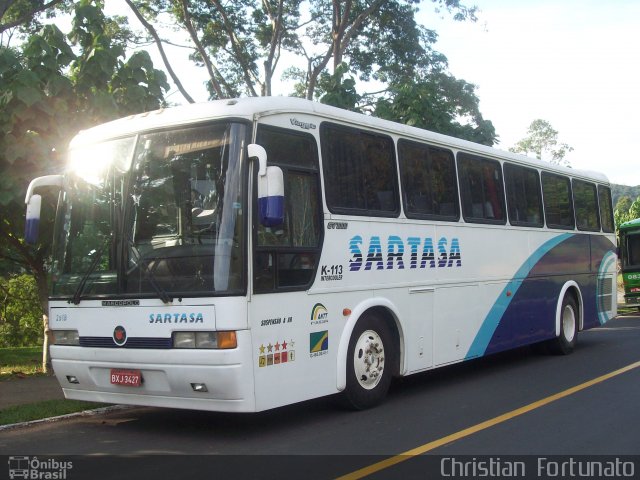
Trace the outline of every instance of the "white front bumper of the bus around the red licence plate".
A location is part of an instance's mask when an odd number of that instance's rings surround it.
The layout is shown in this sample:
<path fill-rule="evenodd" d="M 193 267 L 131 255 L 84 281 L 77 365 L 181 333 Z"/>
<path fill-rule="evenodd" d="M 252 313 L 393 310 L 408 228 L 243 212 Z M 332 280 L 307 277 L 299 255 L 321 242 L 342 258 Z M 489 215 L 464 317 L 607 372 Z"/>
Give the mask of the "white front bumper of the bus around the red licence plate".
<path fill-rule="evenodd" d="M 223 412 L 255 411 L 251 338 L 232 350 L 114 349 L 54 345 L 53 369 L 66 398 Z M 138 387 L 113 385 L 112 369 L 138 370 Z M 70 378 L 77 383 L 71 383 Z M 206 385 L 195 391 L 192 384 Z"/>

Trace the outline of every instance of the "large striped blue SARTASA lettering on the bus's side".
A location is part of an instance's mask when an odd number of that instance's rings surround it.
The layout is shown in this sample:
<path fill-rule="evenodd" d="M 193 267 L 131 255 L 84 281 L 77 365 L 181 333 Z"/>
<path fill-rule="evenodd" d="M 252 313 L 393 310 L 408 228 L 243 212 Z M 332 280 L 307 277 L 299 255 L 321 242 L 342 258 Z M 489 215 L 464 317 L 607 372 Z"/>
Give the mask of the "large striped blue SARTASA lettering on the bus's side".
<path fill-rule="evenodd" d="M 429 237 L 408 237 L 403 240 L 397 235 L 390 235 L 383 243 L 379 236 L 372 236 L 369 239 L 366 257 L 363 247 L 362 236 L 351 237 L 349 270 L 352 272 L 462 266 L 462 252 L 458 238 L 442 237 L 435 244 Z"/>

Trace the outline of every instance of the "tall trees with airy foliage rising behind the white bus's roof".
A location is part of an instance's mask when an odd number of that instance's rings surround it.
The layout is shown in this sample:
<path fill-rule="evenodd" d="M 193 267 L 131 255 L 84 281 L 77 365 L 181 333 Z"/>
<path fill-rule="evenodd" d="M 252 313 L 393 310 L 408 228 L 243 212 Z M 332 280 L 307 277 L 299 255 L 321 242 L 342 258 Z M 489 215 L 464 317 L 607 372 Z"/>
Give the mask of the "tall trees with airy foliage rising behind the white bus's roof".
<path fill-rule="evenodd" d="M 152 24 L 160 15 L 187 33 L 212 99 L 273 95 L 281 72 L 295 96 L 488 145 L 496 140 L 476 87 L 447 73 L 446 57 L 433 48 L 436 33 L 416 20 L 426 5 L 475 21 L 475 7 L 460 0 L 126 1 L 157 45 Z M 376 92 L 365 90 L 371 84 Z"/>

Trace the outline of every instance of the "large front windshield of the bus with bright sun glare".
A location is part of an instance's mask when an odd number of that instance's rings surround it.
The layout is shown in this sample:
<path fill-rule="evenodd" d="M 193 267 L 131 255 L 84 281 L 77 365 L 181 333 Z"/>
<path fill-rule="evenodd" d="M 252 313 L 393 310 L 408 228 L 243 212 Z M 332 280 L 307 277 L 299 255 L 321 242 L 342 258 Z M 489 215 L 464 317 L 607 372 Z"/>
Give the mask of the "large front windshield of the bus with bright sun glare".
<path fill-rule="evenodd" d="M 55 227 L 53 296 L 244 291 L 246 127 L 213 124 L 76 148 Z"/>

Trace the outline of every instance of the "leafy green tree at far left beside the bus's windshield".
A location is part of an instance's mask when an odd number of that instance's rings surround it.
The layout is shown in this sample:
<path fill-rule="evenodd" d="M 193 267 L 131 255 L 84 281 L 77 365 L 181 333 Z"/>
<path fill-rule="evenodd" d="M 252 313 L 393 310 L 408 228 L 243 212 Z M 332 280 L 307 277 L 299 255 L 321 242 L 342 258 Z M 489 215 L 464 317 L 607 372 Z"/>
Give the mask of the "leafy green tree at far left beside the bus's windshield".
<path fill-rule="evenodd" d="M 63 170 L 78 130 L 163 104 L 164 73 L 146 52 L 127 58 L 130 39 L 122 19 L 105 17 L 102 2 L 82 0 L 69 35 L 46 25 L 20 48 L 0 47 L 0 259 L 34 275 L 42 312 L 51 223 L 41 225 L 39 244 L 24 243 L 24 192 L 33 177 Z M 43 201 L 43 218 L 52 219 L 56 197 Z"/>

